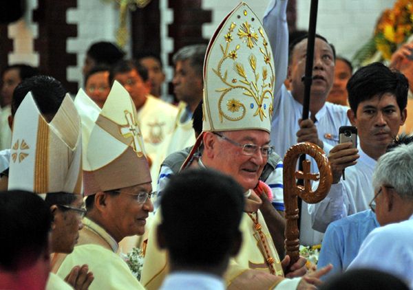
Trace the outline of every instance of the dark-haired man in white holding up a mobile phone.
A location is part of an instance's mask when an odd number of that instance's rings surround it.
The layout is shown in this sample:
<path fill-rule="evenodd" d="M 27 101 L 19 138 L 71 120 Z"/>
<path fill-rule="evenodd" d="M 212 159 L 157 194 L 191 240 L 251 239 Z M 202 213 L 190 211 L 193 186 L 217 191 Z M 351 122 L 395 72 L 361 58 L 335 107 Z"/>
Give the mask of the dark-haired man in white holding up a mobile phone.
<path fill-rule="evenodd" d="M 332 221 L 368 209 L 374 195 L 372 172 L 406 120 L 408 89 L 403 74 L 381 63 L 362 67 L 350 78 L 348 118 L 357 127 L 359 146 L 345 142 L 330 150 L 333 184 L 326 199 L 309 206 L 313 229 L 325 232 Z"/>

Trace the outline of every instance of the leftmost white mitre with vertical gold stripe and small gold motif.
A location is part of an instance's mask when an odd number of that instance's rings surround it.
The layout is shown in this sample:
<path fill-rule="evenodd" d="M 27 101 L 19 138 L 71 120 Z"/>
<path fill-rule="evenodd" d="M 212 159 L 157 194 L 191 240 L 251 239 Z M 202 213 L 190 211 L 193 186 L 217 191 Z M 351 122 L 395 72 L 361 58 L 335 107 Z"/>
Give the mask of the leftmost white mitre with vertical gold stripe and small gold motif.
<path fill-rule="evenodd" d="M 81 118 L 67 94 L 52 122 L 28 93 L 14 115 L 9 190 L 82 191 Z"/>

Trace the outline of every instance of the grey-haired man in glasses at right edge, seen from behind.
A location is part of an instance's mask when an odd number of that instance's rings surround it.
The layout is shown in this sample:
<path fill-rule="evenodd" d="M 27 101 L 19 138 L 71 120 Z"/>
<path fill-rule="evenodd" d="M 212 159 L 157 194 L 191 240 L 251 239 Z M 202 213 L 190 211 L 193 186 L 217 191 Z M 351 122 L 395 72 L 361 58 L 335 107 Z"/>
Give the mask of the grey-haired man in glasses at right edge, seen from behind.
<path fill-rule="evenodd" d="M 385 153 L 374 170 L 370 207 L 381 227 L 361 245 L 349 269 L 388 271 L 413 288 L 413 144 Z"/>

